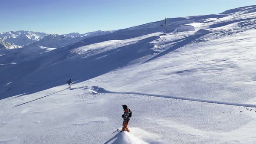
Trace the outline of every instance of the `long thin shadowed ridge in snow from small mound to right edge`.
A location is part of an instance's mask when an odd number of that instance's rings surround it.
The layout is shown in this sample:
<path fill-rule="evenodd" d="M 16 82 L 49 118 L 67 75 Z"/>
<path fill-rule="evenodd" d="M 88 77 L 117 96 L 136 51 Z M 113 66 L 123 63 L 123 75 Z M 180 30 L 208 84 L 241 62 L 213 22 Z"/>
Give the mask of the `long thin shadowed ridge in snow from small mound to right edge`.
<path fill-rule="evenodd" d="M 147 95 L 147 96 L 153 96 L 153 97 L 172 98 L 172 99 L 179 99 L 179 100 L 185 100 L 185 101 L 197 101 L 197 102 L 206 102 L 206 103 L 213 103 L 213 104 L 220 104 L 220 105 L 234 105 L 234 106 L 256 108 L 256 105 L 250 105 L 250 104 L 240 104 L 240 103 L 225 102 L 225 101 L 211 101 L 211 100 L 196 99 L 196 98 L 183 98 L 183 97 L 174 97 L 174 96 L 168 96 L 168 95 L 147 94 L 147 93 L 140 93 L 140 92 L 112 92 L 112 91 L 107 91 L 104 88 L 100 88 L 99 93 Z"/>

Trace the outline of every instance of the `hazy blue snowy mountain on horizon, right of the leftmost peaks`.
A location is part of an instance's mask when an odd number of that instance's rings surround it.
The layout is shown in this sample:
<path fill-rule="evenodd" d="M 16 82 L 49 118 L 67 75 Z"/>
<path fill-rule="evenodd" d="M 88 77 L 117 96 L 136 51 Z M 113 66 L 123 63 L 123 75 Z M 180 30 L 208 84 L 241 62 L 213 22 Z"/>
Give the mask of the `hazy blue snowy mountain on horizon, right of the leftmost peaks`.
<path fill-rule="evenodd" d="M 65 35 L 50 34 L 50 35 L 45 36 L 43 39 L 40 39 L 38 42 L 33 43 L 33 45 L 59 48 L 62 46 L 67 46 L 72 43 L 79 42 L 82 39 L 85 39 L 88 37 L 105 35 L 108 33 L 112 33 L 112 31 L 98 30 L 95 32 L 84 33 L 84 34 L 69 33 L 69 34 L 65 34 Z"/>

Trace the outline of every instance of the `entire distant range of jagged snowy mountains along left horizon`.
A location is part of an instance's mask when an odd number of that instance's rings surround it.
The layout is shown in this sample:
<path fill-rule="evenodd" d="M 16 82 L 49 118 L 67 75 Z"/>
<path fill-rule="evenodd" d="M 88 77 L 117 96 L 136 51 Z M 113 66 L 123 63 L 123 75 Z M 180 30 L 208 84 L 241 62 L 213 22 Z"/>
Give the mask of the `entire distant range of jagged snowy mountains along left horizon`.
<path fill-rule="evenodd" d="M 15 48 L 21 48 L 21 47 L 30 47 L 30 45 L 59 48 L 62 46 L 70 45 L 72 43 L 76 43 L 88 37 L 104 35 L 112 32 L 114 31 L 98 30 L 95 32 L 89 32 L 84 34 L 69 33 L 65 35 L 57 35 L 57 34 L 48 35 L 46 33 L 23 31 L 23 30 L 10 31 L 5 33 L 0 33 L 0 39 L 1 39 L 0 48 L 15 49 Z"/>

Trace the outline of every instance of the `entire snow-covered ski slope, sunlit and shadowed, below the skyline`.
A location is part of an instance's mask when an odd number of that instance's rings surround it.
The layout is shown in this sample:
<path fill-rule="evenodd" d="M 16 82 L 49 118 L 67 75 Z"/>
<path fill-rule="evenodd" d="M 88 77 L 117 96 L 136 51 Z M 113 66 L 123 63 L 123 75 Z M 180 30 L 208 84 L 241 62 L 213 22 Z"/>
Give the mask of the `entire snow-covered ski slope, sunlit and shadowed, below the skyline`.
<path fill-rule="evenodd" d="M 255 10 L 168 19 L 167 32 L 147 23 L 26 60 L 0 56 L 0 141 L 256 143 Z M 173 33 L 181 25 L 195 31 Z M 130 133 L 117 131 L 123 104 Z"/>

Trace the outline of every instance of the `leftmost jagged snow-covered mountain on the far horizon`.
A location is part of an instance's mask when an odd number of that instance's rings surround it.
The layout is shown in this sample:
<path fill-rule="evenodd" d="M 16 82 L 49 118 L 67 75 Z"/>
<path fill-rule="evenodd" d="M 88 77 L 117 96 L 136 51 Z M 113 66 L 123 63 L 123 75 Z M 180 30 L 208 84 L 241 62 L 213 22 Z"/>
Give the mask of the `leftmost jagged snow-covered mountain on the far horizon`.
<path fill-rule="evenodd" d="M 0 33 L 0 38 L 8 43 L 13 43 L 17 46 L 26 46 L 36 41 L 39 41 L 46 33 L 32 32 L 32 31 L 10 31 Z"/>

